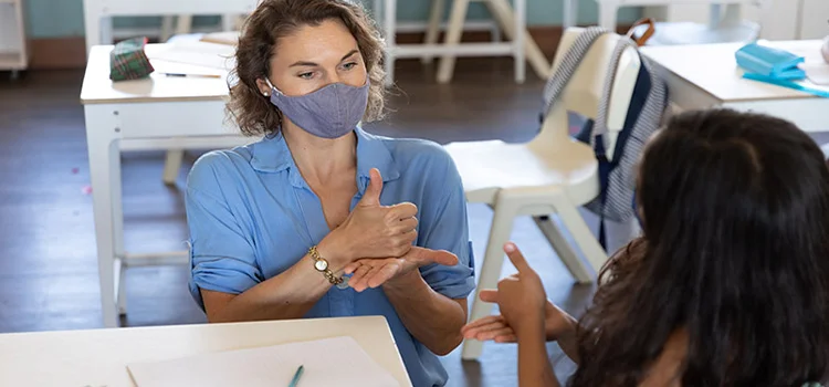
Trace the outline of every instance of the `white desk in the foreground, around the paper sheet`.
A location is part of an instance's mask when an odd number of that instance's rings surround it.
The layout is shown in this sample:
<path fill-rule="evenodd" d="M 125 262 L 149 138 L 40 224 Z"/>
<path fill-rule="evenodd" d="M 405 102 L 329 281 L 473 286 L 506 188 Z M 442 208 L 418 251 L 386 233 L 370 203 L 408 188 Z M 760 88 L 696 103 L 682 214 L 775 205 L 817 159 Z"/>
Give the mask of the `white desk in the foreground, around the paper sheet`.
<path fill-rule="evenodd" d="M 411 386 L 381 316 L 0 335 L 0 386 L 135 386 L 126 366 L 199 354 L 351 336 L 401 387 Z"/>

